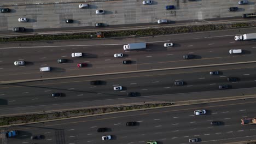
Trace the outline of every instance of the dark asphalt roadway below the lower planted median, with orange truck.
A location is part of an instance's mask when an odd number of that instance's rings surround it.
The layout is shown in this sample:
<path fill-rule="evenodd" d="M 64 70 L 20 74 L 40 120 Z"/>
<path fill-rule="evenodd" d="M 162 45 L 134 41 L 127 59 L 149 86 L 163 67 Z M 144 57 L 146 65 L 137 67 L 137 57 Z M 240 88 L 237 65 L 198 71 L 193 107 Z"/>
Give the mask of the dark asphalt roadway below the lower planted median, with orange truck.
<path fill-rule="evenodd" d="M 241 125 L 240 119 L 255 117 L 256 99 L 235 100 L 203 105 L 190 105 L 145 111 L 115 113 L 93 117 L 20 125 L 5 130 L 18 130 L 19 136 L 8 143 L 188 143 L 198 137 L 201 143 L 226 143 L 255 139 L 253 125 Z M 194 110 L 205 109 L 206 115 L 194 116 Z M 126 122 L 136 121 L 135 127 Z M 212 121 L 224 125 L 211 126 Z M 97 128 L 106 127 L 105 133 Z M 31 135 L 44 135 L 43 140 L 30 140 Z M 101 141 L 112 135 L 113 140 Z"/>

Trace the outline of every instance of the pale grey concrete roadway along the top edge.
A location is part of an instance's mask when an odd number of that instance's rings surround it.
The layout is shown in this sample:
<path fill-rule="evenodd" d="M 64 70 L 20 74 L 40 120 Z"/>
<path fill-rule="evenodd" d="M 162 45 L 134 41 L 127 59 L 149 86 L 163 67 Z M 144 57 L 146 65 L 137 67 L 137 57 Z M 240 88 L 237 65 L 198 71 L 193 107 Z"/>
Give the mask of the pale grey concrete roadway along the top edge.
<path fill-rule="evenodd" d="M 10 33 L 13 27 L 25 27 L 27 32 L 34 32 L 34 29 L 51 28 L 92 28 L 95 22 L 102 22 L 106 27 L 119 25 L 157 25 L 159 19 L 167 19 L 170 23 L 176 21 L 208 21 L 208 19 L 227 19 L 239 17 L 242 14 L 253 13 L 255 0 L 247 5 L 238 5 L 237 1 L 157 1 L 152 5 L 143 5 L 142 1 L 97 1 L 88 2 L 90 8 L 79 9 L 78 5 L 83 1 L 71 2 L 68 0 L 40 2 L 34 1 L 1 1 L 1 6 L 11 9 L 10 13 L 1 13 L 0 31 Z M 15 5 L 15 6 L 13 6 Z M 174 5 L 176 9 L 166 10 L 166 5 Z M 1 7 L 1 8 L 2 8 Z M 229 12 L 229 7 L 238 7 L 235 12 Z M 104 9 L 104 15 L 96 15 L 97 9 Z M 19 22 L 20 17 L 28 18 L 28 22 Z M 73 23 L 65 23 L 66 19 L 73 19 Z M 56 29 L 57 30 L 57 29 Z"/>

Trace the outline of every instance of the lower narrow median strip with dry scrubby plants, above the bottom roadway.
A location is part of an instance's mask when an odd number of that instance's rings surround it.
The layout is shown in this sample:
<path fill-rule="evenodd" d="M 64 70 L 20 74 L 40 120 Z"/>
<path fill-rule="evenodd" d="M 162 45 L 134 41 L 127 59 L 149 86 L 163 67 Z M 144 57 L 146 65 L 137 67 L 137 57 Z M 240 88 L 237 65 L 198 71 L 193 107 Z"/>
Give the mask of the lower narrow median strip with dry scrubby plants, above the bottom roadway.
<path fill-rule="evenodd" d="M 130 112 L 130 111 L 139 111 L 139 110 L 149 110 L 149 109 L 159 109 L 163 107 L 172 107 L 172 106 L 183 106 L 183 105 L 195 105 L 195 104 L 204 104 L 204 103 L 216 103 L 220 101 L 230 101 L 230 100 L 246 100 L 256 98 L 256 94 L 253 95 L 238 95 L 235 97 L 224 97 L 224 98 L 212 98 L 212 99 L 199 99 L 199 100 L 188 100 L 188 101 L 158 101 L 158 102 L 144 102 L 144 103 L 133 103 L 133 104 L 120 104 L 120 105 L 109 105 L 104 107 L 89 107 L 86 109 L 69 109 L 62 111 L 49 111 L 44 113 L 24 113 L 16 116 L 1 116 L 0 117 L 0 127 L 9 127 L 11 125 L 24 125 L 38 122 L 50 122 L 63 119 L 71 118 L 81 118 L 97 115 L 106 115 L 110 113 L 119 113 L 119 112 Z M 239 105 L 245 103 L 256 103 L 255 101 L 245 101 L 241 103 L 235 103 L 232 105 Z M 208 106 L 208 107 L 217 107 Z M 204 107 L 207 108 L 207 107 Z M 188 108 L 182 110 L 194 110 L 195 108 Z M 182 110 L 173 110 L 173 111 L 182 111 Z"/>

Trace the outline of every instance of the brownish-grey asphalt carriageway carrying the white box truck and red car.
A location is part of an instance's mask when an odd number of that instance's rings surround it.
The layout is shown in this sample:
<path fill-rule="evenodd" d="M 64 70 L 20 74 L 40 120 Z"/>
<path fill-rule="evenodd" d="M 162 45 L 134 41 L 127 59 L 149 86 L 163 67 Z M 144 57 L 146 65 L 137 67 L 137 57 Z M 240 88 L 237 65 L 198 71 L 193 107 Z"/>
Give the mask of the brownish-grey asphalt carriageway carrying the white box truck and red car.
<path fill-rule="evenodd" d="M 63 76 L 104 74 L 122 71 L 149 70 L 186 67 L 203 64 L 220 64 L 254 61 L 255 41 L 234 41 L 235 34 L 255 32 L 253 28 L 229 31 L 176 34 L 161 37 L 68 40 L 3 43 L 1 49 L 1 81 L 44 79 Z M 146 41 L 147 49 L 124 51 L 124 43 Z M 165 48 L 164 43 L 174 43 Z M 243 49 L 242 55 L 230 55 L 230 49 Z M 84 56 L 72 58 L 72 52 L 83 52 Z M 123 58 L 114 58 L 114 53 L 124 53 Z M 183 59 L 185 54 L 196 57 Z M 66 58 L 59 64 L 57 59 Z M 130 65 L 121 62 L 132 61 Z M 15 66 L 14 61 L 25 61 L 25 66 Z M 77 68 L 77 63 L 88 63 L 87 68 Z M 42 73 L 40 67 L 52 67 L 50 73 Z"/>

